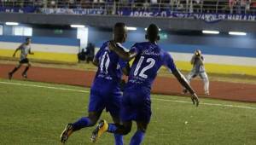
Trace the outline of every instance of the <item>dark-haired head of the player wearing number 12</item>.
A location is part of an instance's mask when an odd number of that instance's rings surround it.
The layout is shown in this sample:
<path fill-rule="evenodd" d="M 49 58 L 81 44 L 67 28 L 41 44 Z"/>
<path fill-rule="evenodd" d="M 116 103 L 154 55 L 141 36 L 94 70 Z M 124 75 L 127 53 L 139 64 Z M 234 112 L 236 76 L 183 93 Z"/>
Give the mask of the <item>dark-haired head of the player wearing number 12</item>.
<path fill-rule="evenodd" d="M 148 41 L 152 42 L 152 43 L 160 40 L 158 26 L 156 26 L 154 24 L 150 24 L 147 28 L 145 38 L 148 39 Z"/>

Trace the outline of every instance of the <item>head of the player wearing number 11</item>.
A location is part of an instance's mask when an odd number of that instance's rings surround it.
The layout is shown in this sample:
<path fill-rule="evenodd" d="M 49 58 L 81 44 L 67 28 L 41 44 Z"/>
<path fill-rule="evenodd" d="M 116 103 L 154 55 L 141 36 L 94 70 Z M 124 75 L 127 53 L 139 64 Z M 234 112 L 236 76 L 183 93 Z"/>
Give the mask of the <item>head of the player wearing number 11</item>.
<path fill-rule="evenodd" d="M 113 39 L 117 43 L 124 43 L 127 38 L 127 27 L 125 23 L 118 22 L 113 26 Z"/>

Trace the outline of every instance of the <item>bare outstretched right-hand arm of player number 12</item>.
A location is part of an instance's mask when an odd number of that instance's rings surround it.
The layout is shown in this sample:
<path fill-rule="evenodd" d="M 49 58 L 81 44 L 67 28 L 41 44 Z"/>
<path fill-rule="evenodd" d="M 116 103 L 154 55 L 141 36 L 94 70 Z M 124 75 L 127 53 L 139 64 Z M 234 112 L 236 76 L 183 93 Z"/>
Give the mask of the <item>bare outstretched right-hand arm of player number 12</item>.
<path fill-rule="evenodd" d="M 180 73 L 177 70 L 177 68 L 175 70 L 172 70 L 172 74 L 177 78 L 179 83 L 183 85 L 183 87 L 185 87 L 187 90 L 189 90 L 189 93 L 191 94 L 191 100 L 192 100 L 193 104 L 195 104 L 196 107 L 198 107 L 198 105 L 199 105 L 198 96 L 195 94 L 195 90 L 192 89 L 192 87 L 188 83 L 187 79 L 184 78 L 183 74 Z"/>

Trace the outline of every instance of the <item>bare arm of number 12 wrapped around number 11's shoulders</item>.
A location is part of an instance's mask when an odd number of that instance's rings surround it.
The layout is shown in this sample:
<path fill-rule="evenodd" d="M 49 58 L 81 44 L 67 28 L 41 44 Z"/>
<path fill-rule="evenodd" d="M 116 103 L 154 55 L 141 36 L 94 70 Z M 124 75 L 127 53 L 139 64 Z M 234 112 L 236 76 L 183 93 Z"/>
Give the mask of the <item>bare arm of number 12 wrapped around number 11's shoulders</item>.
<path fill-rule="evenodd" d="M 108 49 L 113 50 L 119 57 L 125 61 L 131 61 L 136 55 L 136 52 L 126 52 L 124 49 L 119 48 L 113 41 L 109 43 Z"/>

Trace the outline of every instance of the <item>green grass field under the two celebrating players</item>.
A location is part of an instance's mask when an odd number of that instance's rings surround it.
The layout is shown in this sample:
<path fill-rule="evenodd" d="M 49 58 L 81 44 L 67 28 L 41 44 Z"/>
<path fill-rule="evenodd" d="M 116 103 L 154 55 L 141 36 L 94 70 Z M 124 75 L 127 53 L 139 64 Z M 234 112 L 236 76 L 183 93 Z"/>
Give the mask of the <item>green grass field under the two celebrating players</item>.
<path fill-rule="evenodd" d="M 0 144 L 60 144 L 63 127 L 86 115 L 88 96 L 77 86 L 0 79 Z M 144 145 L 256 144 L 256 103 L 201 99 L 195 107 L 187 97 L 153 95 L 152 108 Z M 108 113 L 102 118 L 111 121 Z M 89 144 L 92 130 L 76 132 L 67 144 Z M 96 144 L 112 145 L 113 137 L 104 134 Z"/>

